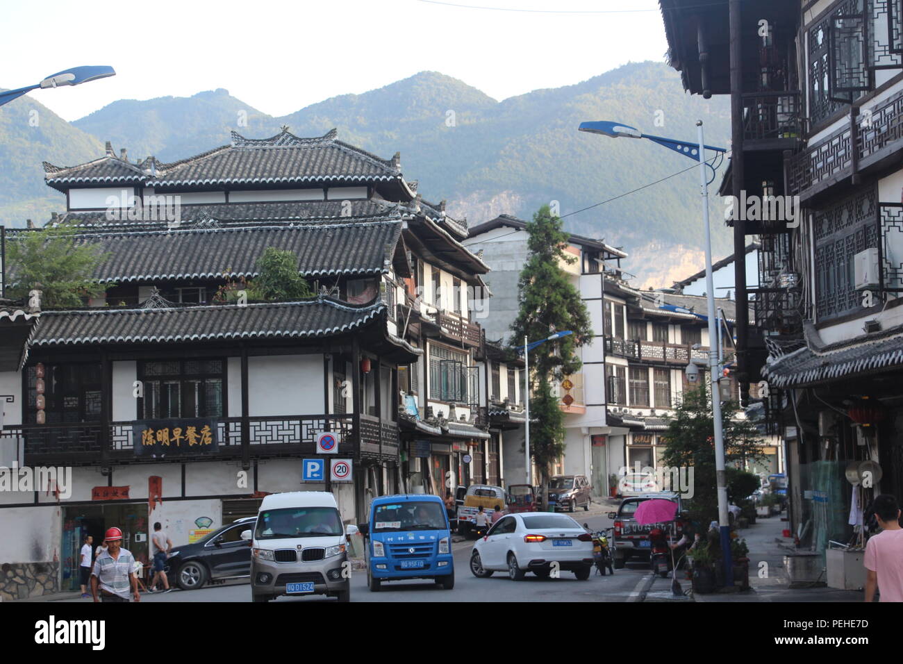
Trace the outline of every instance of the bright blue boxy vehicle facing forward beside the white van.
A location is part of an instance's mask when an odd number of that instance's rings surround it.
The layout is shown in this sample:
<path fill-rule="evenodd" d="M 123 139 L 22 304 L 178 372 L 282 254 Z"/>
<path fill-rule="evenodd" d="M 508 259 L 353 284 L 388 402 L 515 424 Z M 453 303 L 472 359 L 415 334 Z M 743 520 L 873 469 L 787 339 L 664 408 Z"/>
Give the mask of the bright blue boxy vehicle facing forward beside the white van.
<path fill-rule="evenodd" d="M 381 496 L 358 528 L 367 541 L 367 581 L 374 593 L 384 581 L 404 579 L 454 587 L 452 531 L 438 496 Z"/>

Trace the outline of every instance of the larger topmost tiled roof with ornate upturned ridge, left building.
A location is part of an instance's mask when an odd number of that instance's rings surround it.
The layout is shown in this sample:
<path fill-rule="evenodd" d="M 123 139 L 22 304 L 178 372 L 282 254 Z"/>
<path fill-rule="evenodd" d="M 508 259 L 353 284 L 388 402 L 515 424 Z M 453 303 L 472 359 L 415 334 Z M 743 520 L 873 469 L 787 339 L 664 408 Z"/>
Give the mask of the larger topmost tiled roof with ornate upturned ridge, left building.
<path fill-rule="evenodd" d="M 160 164 L 148 186 L 277 182 L 362 182 L 401 177 L 397 159 L 382 159 L 336 138 L 335 129 L 318 138 L 287 130 L 265 139 L 232 132 L 231 145 L 172 164 Z"/>

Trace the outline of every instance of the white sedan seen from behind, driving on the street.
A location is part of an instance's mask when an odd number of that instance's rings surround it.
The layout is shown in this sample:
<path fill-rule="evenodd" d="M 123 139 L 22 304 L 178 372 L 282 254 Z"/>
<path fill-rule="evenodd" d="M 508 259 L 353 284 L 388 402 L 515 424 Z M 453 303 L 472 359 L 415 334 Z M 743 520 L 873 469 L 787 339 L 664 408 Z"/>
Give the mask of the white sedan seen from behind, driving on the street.
<path fill-rule="evenodd" d="M 518 581 L 527 572 L 546 578 L 567 571 L 586 581 L 592 562 L 592 538 L 571 517 L 523 512 L 498 519 L 486 537 L 477 540 L 470 554 L 470 572 L 486 578 L 507 570 Z"/>

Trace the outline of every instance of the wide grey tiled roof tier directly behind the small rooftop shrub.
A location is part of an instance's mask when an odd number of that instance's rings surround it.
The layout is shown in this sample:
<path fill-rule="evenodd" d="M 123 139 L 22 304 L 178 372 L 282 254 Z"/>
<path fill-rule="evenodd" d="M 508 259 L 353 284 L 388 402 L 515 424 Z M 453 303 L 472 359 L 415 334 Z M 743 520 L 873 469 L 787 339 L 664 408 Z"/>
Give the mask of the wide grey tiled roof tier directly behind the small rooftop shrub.
<path fill-rule="evenodd" d="M 102 282 L 204 279 L 257 275 L 266 248 L 292 251 L 304 276 L 388 272 L 401 221 L 259 225 L 210 229 L 93 231 L 77 241 L 107 255 L 91 275 Z M 14 281 L 15 276 L 9 276 Z"/>

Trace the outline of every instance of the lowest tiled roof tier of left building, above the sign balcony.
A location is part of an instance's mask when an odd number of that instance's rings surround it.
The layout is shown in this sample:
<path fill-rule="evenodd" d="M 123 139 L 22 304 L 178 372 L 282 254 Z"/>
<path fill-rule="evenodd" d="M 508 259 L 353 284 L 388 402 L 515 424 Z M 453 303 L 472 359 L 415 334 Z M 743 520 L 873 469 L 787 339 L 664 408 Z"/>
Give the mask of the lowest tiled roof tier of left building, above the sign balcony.
<path fill-rule="evenodd" d="M 245 306 L 45 311 L 30 345 L 309 339 L 358 330 L 385 312 L 383 303 L 352 306 L 326 297 Z"/>

